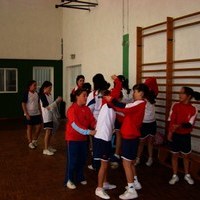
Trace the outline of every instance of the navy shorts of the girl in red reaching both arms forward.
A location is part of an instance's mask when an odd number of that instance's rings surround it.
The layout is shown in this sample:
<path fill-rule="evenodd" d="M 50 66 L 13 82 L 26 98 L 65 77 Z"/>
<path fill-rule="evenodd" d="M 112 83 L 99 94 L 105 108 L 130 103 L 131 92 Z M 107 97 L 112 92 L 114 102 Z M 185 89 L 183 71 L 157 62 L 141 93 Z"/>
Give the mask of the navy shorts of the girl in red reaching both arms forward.
<path fill-rule="evenodd" d="M 122 138 L 122 155 L 125 160 L 135 160 L 137 157 L 139 138 L 123 139 Z"/>

